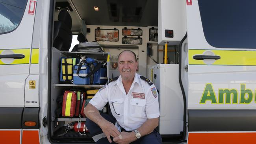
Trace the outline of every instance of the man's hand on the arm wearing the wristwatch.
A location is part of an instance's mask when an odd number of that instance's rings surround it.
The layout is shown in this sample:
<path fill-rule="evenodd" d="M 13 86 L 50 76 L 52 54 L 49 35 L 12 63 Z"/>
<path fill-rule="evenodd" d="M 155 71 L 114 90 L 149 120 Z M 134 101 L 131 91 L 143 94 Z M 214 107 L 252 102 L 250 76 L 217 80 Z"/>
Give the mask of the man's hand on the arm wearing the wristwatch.
<path fill-rule="evenodd" d="M 128 132 L 121 132 L 118 137 L 113 138 L 113 141 L 118 144 L 129 144 L 133 141 L 137 140 L 135 137 L 134 131 Z"/>

